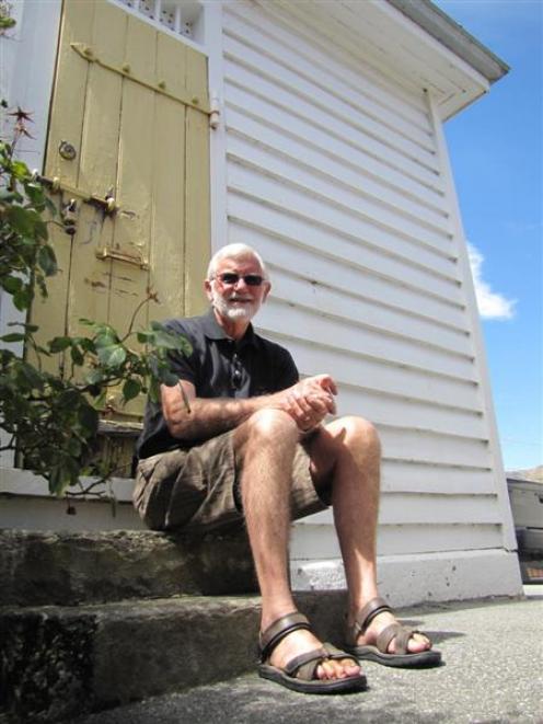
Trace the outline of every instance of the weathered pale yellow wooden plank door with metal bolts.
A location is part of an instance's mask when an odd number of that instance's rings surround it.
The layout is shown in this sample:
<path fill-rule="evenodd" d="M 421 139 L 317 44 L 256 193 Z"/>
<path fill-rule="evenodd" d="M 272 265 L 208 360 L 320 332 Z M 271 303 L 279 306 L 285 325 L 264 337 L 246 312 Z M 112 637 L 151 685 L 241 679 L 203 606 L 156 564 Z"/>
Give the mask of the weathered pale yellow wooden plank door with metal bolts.
<path fill-rule="evenodd" d="M 160 307 L 141 323 L 205 308 L 208 104 L 203 54 L 106 0 L 65 0 L 45 176 L 76 203 L 76 233 L 53 229 L 41 338 L 80 333 L 81 318 L 124 332 L 148 289 Z"/>

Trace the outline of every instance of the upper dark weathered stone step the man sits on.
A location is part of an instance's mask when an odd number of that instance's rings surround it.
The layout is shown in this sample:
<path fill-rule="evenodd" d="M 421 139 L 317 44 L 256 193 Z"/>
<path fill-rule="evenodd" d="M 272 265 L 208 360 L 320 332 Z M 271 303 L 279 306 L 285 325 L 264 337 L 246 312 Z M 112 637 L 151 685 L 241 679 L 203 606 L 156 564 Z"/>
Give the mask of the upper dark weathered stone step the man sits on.
<path fill-rule="evenodd" d="M 153 531 L 0 530 L 0 606 L 257 590 L 243 530 L 203 538 Z"/>

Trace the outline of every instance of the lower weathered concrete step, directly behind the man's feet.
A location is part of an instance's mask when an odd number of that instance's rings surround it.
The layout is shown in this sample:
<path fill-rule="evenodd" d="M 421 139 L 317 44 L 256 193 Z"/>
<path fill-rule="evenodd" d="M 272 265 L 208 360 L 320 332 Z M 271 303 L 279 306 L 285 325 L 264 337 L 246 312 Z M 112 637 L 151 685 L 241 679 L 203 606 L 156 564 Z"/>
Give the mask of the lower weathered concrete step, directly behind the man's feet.
<path fill-rule="evenodd" d="M 323 637 L 339 639 L 342 591 L 297 599 Z M 258 618 L 255 596 L 2 607 L 0 722 L 71 721 L 251 670 Z"/>

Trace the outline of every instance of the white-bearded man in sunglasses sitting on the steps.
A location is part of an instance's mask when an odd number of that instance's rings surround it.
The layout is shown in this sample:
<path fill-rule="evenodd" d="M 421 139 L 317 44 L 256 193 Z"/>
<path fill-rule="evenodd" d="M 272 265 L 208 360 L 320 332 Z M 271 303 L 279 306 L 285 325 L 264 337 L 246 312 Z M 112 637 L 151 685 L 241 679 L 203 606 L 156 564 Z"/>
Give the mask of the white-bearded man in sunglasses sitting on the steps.
<path fill-rule="evenodd" d="M 430 641 L 401 627 L 378 597 L 376 528 L 380 444 L 359 417 L 335 413 L 328 375 L 299 380 L 290 354 L 257 335 L 269 294 L 261 256 L 222 248 L 207 279 L 208 314 L 172 320 L 193 345 L 172 355 L 175 387 L 148 404 L 138 443 L 135 505 L 155 530 L 208 531 L 244 520 L 262 595 L 259 674 L 299 691 L 360 689 L 356 659 L 439 663 Z M 289 586 L 290 522 L 332 505 L 348 586 L 346 648 L 311 632 Z"/>

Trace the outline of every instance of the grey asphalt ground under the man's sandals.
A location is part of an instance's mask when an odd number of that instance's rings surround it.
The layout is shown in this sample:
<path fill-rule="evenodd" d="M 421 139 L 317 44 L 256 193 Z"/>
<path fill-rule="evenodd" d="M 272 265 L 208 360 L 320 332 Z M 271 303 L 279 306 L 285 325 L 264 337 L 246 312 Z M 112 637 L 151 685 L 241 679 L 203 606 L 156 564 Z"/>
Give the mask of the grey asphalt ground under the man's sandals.
<path fill-rule="evenodd" d="M 525 586 L 524 593 L 524 600 L 401 611 L 409 625 L 431 635 L 443 664 L 393 669 L 366 663 L 363 692 L 301 694 L 253 673 L 100 712 L 77 724 L 543 724 L 543 585 Z"/>

